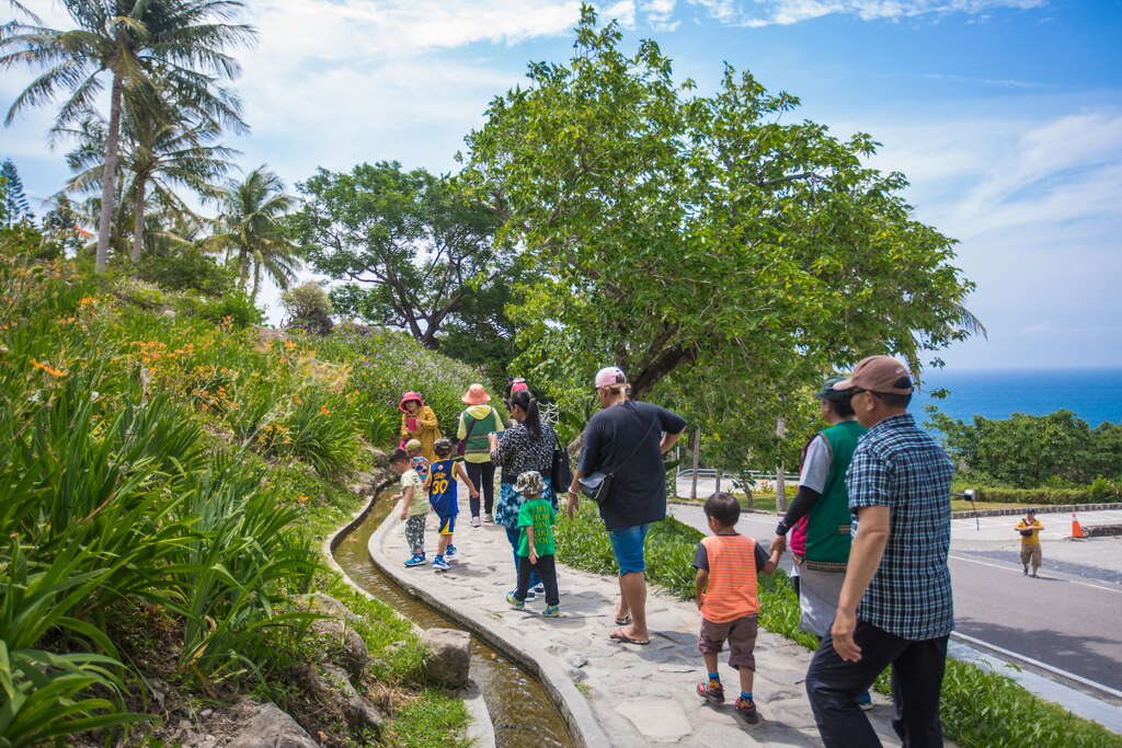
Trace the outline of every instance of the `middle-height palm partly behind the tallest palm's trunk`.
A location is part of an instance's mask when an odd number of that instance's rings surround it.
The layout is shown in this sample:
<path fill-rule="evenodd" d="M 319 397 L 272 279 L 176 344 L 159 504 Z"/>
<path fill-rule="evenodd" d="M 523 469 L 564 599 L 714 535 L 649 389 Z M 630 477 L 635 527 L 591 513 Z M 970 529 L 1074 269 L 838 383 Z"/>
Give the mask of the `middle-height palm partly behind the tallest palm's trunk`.
<path fill-rule="evenodd" d="M 104 175 L 104 142 L 108 137 L 104 120 L 90 112 L 76 129 L 56 129 L 75 137 L 77 148 L 66 160 L 77 174 L 65 190 L 85 192 L 101 186 Z M 158 204 L 178 213 L 191 213 L 175 192 L 186 186 L 202 195 L 213 192 L 215 179 L 230 169 L 229 159 L 239 151 L 214 145 L 221 133 L 217 121 L 204 116 L 187 114 L 164 99 L 139 100 L 126 95 L 121 112 L 120 172 L 128 182 L 121 193 L 132 207 L 131 260 L 138 262 L 145 246 L 145 213 L 148 188 Z"/>

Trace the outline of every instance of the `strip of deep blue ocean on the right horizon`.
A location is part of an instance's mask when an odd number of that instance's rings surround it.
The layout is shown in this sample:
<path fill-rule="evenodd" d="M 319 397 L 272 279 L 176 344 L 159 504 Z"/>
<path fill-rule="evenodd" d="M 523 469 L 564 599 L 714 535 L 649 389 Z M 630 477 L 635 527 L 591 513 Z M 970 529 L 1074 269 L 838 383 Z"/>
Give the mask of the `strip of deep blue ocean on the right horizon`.
<path fill-rule="evenodd" d="M 950 395 L 931 399 L 928 394 L 940 387 Z M 1104 421 L 1122 423 L 1122 369 L 931 369 L 923 373 L 923 389 L 909 408 L 920 423 L 927 419 L 923 406 L 928 404 L 967 423 L 975 415 L 1042 416 L 1060 408 L 1092 427 Z"/>

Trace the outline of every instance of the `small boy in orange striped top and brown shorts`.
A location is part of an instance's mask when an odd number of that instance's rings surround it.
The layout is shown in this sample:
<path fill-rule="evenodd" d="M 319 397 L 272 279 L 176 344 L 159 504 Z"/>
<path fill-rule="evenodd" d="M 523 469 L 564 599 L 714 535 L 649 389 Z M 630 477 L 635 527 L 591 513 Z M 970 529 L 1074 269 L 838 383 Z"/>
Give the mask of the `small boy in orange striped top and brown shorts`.
<path fill-rule="evenodd" d="M 749 724 L 760 721 L 752 698 L 756 658 L 756 615 L 760 598 L 756 594 L 756 573 L 771 574 L 779 566 L 780 552 L 771 557 L 751 537 L 738 534 L 734 527 L 741 518 L 741 504 L 728 493 L 714 493 L 705 502 L 705 515 L 712 535 L 701 539 L 693 554 L 697 574 L 697 601 L 701 611 L 701 632 L 698 649 L 705 657 L 709 678 L 698 684 L 698 695 L 719 704 L 725 701 L 725 689 L 717 672 L 717 655 L 728 641 L 728 664 L 741 674 L 741 695 L 736 711 Z"/>

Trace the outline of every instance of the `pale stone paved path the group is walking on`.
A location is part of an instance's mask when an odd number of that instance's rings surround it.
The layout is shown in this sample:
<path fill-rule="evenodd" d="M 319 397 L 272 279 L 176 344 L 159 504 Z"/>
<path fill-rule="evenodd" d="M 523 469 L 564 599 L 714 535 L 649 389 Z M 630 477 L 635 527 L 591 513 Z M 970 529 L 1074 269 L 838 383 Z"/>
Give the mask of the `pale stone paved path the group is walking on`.
<path fill-rule="evenodd" d="M 647 603 L 651 644 L 616 644 L 608 639 L 615 628 L 616 580 L 559 565 L 562 618 L 543 618 L 541 598 L 527 602 L 526 611 L 511 610 L 504 597 L 514 587 L 514 562 L 506 535 L 494 525 L 471 527 L 462 486 L 460 496 L 452 570 L 438 573 L 425 565 L 407 573 L 444 602 L 485 612 L 563 663 L 613 745 L 821 745 L 802 685 L 809 652 L 761 630 L 754 693 L 763 721 L 748 726 L 736 717 L 732 703 L 715 708 L 695 695 L 695 684 L 705 677 L 697 652 L 700 618 L 696 606 L 652 589 Z M 432 514 L 425 541 L 431 560 L 436 542 Z M 399 527 L 385 534 L 381 551 L 389 558 L 406 557 Z M 730 692 L 736 690 L 736 671 L 725 663 L 721 680 Z M 889 724 L 891 705 L 880 695 L 874 699 L 873 724 L 885 746 L 898 746 Z"/>

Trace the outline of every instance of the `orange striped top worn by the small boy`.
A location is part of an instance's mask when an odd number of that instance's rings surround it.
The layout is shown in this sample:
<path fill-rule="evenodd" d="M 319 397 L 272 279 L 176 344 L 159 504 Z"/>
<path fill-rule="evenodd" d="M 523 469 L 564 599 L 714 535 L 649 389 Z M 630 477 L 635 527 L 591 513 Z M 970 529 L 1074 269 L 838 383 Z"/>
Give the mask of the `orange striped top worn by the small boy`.
<path fill-rule="evenodd" d="M 757 556 L 763 553 L 756 542 L 744 535 L 710 535 L 701 539 L 701 547 L 707 563 L 699 563 L 699 554 L 693 564 L 709 571 L 701 616 L 714 624 L 727 624 L 757 613 Z"/>

